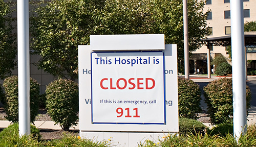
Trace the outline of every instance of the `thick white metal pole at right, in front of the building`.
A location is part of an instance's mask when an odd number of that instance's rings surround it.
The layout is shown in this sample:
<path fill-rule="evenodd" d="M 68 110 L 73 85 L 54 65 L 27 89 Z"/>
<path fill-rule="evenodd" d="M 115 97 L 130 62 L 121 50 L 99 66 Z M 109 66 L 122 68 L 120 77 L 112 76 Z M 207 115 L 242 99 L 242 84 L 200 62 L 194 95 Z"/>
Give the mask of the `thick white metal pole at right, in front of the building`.
<path fill-rule="evenodd" d="M 233 125 L 237 141 L 246 132 L 246 81 L 243 1 L 230 1 L 233 77 Z"/>

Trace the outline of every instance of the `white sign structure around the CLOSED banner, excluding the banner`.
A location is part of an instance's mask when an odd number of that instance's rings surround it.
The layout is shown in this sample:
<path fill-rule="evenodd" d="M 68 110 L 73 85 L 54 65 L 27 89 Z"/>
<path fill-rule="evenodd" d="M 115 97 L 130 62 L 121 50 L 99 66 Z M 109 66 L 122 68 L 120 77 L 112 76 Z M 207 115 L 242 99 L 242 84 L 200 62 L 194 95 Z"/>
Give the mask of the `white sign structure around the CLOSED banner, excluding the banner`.
<path fill-rule="evenodd" d="M 98 37 L 97 37 L 98 36 Z M 179 132 L 179 119 L 178 119 L 178 67 L 177 67 L 177 45 L 166 44 L 164 41 L 155 42 L 156 45 L 153 49 L 145 45 L 145 38 L 147 35 L 139 35 L 143 37 L 136 37 L 135 44 L 130 45 L 130 48 L 123 46 L 127 40 L 121 38 L 131 39 L 134 36 L 130 35 L 110 35 L 110 37 L 119 38 L 119 42 L 114 44 L 115 51 L 158 51 L 164 50 L 165 61 L 165 104 L 166 104 L 166 124 L 92 124 L 91 122 L 91 53 L 94 51 L 109 51 L 104 48 L 101 41 L 108 37 L 107 35 L 96 35 L 94 43 L 98 44 L 98 48 L 93 48 L 90 45 L 78 46 L 78 68 L 79 68 L 79 128 L 80 136 L 82 138 L 89 138 L 93 140 L 108 140 L 111 139 L 112 143 L 117 146 L 138 146 L 139 142 L 146 139 L 158 140 L 164 133 L 177 133 Z M 147 36 L 147 37 L 145 37 Z M 154 44 L 154 37 L 161 37 L 164 35 L 149 35 L 151 37 L 151 44 Z M 97 39 L 98 38 L 98 39 Z M 138 41 L 142 40 L 142 41 Z M 140 42 L 144 42 L 139 44 Z M 106 42 L 108 43 L 108 42 Z M 99 45 L 101 44 L 101 45 Z M 110 43 L 111 44 L 111 43 Z M 140 48 L 138 48 L 138 45 Z M 106 45 L 109 46 L 109 45 Z M 104 50 L 99 50 L 103 48 Z M 113 51 L 113 50 L 110 50 Z M 154 117 L 154 116 L 153 116 Z"/>

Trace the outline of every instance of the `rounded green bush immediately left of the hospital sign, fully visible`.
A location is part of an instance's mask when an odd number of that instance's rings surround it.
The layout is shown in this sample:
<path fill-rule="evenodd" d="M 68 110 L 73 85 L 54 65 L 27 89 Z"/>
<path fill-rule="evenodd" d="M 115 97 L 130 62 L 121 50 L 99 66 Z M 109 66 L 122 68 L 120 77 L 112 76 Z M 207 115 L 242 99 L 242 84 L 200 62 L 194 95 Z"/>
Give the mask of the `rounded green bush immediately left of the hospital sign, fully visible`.
<path fill-rule="evenodd" d="M 69 130 L 78 120 L 78 84 L 71 80 L 56 80 L 46 87 L 46 109 L 56 124 Z"/>

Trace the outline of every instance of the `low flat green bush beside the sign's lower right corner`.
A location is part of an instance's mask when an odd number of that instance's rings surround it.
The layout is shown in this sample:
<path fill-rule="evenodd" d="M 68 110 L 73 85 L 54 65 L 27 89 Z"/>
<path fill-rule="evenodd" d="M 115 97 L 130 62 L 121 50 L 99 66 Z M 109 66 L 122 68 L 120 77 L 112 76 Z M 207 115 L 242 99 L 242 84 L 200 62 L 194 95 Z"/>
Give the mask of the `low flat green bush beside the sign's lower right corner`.
<path fill-rule="evenodd" d="M 189 118 L 179 118 L 179 133 L 189 134 L 189 133 L 204 133 L 206 126 L 202 122 Z"/>

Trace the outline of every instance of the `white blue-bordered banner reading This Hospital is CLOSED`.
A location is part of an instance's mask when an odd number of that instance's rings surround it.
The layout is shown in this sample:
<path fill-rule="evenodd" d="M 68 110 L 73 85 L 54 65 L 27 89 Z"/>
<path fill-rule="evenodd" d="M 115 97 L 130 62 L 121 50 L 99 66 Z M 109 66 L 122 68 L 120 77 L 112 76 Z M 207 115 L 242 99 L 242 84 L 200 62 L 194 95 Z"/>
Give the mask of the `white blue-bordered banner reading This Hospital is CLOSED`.
<path fill-rule="evenodd" d="M 92 122 L 165 124 L 163 54 L 92 52 Z"/>

